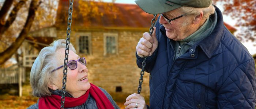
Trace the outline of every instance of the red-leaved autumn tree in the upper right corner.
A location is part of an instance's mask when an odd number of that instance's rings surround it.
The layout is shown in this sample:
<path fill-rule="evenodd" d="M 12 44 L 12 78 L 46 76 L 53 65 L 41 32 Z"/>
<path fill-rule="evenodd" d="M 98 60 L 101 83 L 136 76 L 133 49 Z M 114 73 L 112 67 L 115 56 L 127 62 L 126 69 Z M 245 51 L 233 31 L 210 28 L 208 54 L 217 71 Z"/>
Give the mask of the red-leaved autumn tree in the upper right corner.
<path fill-rule="evenodd" d="M 256 0 L 215 0 L 223 4 L 223 14 L 237 19 L 241 27 L 237 34 L 241 41 L 256 40 Z"/>

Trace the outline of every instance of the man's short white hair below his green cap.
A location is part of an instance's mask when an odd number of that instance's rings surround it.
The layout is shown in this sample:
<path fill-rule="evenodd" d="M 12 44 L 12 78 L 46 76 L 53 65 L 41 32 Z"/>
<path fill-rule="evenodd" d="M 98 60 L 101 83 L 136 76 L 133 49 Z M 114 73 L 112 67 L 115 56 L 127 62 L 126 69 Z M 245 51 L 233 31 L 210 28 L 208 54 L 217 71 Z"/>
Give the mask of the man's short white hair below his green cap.
<path fill-rule="evenodd" d="M 195 18 L 195 16 L 198 16 L 200 14 L 200 12 L 202 11 L 204 14 L 203 18 L 205 18 L 205 19 L 208 19 L 210 17 L 210 15 L 214 14 L 214 12 L 215 12 L 215 7 L 212 4 L 210 4 L 210 6 L 206 7 L 206 8 L 193 8 L 193 7 L 183 6 L 178 9 L 180 9 L 180 11 L 185 13 L 186 15 L 193 15 L 194 18 Z M 188 24 L 188 20 L 185 20 L 183 26 L 185 26 L 187 24 Z"/>

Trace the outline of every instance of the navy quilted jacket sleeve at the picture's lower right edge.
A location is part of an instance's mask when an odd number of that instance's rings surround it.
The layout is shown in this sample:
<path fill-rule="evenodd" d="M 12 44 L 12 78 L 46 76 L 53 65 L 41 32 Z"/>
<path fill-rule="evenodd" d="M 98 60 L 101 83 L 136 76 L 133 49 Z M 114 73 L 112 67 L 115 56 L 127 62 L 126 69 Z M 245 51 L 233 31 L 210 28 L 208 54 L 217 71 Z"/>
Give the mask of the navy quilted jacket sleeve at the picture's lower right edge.
<path fill-rule="evenodd" d="M 218 109 L 255 109 L 255 80 L 254 60 L 236 66 L 228 77 L 223 79 L 218 91 Z"/>

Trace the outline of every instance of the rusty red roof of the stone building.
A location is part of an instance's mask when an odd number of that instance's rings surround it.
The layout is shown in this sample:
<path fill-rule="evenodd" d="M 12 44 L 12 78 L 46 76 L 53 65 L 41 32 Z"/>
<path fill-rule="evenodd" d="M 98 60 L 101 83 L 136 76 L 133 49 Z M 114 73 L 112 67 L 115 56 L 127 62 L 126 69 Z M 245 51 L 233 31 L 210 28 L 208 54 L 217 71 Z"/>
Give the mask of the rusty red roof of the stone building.
<path fill-rule="evenodd" d="M 60 0 L 59 7 L 57 11 L 56 26 L 61 27 L 67 25 L 68 18 L 68 4 L 69 0 Z M 84 1 L 87 3 L 88 1 Z M 149 28 L 151 26 L 151 19 L 153 15 L 144 12 L 136 4 L 118 4 L 113 3 L 113 6 L 117 8 L 117 12 L 105 12 L 103 6 L 99 2 L 94 2 L 98 4 L 99 12 L 103 13 L 103 16 L 90 17 L 88 20 L 84 21 L 83 16 L 79 14 L 79 4 L 78 1 L 74 1 L 73 13 L 78 13 L 76 18 L 72 18 L 72 26 L 79 27 L 131 27 L 131 28 Z M 110 3 L 105 3 L 110 4 Z M 116 18 L 114 18 L 116 15 Z M 156 18 L 157 19 L 157 18 Z M 230 31 L 236 31 L 235 28 L 224 23 Z"/>

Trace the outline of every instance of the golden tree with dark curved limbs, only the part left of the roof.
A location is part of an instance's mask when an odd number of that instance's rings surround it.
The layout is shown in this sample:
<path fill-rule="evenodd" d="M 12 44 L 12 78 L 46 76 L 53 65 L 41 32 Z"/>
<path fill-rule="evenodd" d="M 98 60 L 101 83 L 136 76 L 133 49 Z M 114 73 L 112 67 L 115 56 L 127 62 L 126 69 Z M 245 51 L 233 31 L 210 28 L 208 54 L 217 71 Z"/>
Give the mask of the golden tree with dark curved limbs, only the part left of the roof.
<path fill-rule="evenodd" d="M 5 0 L 0 10 L 0 65 L 16 53 L 32 30 L 54 23 L 57 0 Z M 49 20 L 50 19 L 50 20 Z M 31 29 L 31 27 L 33 29 Z"/>

